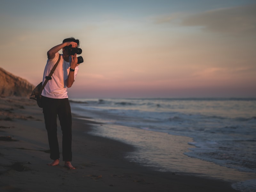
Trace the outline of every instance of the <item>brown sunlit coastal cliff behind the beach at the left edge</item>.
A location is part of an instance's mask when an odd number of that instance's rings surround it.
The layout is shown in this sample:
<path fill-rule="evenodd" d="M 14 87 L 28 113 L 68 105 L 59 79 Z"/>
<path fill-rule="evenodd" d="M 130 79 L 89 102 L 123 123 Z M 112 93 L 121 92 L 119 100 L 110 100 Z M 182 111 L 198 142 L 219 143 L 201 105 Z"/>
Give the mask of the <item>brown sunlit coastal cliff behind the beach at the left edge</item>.
<path fill-rule="evenodd" d="M 30 96 L 35 86 L 26 79 L 15 76 L 0 68 L 0 96 Z"/>

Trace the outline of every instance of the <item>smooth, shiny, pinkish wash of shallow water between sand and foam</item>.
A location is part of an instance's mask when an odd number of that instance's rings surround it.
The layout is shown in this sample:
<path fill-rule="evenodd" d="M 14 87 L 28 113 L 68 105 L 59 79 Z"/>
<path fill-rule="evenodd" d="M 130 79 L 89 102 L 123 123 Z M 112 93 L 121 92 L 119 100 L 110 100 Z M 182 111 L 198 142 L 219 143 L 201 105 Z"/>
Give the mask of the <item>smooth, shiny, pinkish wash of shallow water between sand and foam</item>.
<path fill-rule="evenodd" d="M 79 116 L 86 121 L 91 119 Z M 99 119 L 95 119 L 99 121 Z M 233 183 L 256 179 L 250 172 L 242 172 L 186 155 L 193 146 L 193 138 L 153 132 L 134 127 L 115 124 L 92 124 L 89 134 L 117 140 L 133 146 L 136 150 L 126 153 L 126 161 L 131 161 L 160 172 L 178 172 L 179 174 L 220 179 Z M 170 146 L 170 147 L 166 147 Z"/>

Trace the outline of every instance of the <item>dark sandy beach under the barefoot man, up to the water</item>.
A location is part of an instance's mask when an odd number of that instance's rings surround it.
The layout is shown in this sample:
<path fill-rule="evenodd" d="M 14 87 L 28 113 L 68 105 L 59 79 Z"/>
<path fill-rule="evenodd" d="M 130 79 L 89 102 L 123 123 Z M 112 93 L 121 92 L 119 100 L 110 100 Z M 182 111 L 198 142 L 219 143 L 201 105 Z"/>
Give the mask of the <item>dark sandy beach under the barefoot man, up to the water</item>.
<path fill-rule="evenodd" d="M 42 109 L 34 100 L 0 98 L 0 191 L 236 191 L 230 182 L 186 173 L 157 172 L 128 162 L 134 150 L 119 141 L 88 134 L 97 122 L 73 116 L 75 170 L 51 162 Z M 104 126 L 104 124 L 100 124 Z M 58 127 L 61 151 L 61 131 Z M 61 160 L 61 159 L 60 159 Z"/>

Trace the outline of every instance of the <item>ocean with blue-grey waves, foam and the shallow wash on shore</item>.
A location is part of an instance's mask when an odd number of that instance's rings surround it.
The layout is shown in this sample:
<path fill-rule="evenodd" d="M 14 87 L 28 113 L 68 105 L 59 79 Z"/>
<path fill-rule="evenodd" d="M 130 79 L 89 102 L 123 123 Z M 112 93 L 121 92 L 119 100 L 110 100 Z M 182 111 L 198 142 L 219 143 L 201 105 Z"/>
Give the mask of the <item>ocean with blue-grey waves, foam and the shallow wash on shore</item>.
<path fill-rule="evenodd" d="M 255 191 L 256 98 L 70 101 L 73 113 L 102 123 L 91 134 L 137 148 L 127 154 L 129 161 L 232 180 L 240 191 Z"/>

